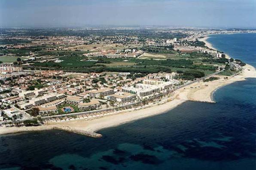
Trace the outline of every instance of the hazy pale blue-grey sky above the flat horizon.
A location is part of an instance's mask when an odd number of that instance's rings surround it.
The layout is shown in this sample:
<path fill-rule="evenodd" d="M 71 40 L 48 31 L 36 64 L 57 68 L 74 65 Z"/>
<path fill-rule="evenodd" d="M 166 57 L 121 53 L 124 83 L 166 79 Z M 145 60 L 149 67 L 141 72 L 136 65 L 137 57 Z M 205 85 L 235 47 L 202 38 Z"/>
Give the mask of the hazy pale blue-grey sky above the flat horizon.
<path fill-rule="evenodd" d="M 0 27 L 256 28 L 256 0 L 0 0 Z"/>

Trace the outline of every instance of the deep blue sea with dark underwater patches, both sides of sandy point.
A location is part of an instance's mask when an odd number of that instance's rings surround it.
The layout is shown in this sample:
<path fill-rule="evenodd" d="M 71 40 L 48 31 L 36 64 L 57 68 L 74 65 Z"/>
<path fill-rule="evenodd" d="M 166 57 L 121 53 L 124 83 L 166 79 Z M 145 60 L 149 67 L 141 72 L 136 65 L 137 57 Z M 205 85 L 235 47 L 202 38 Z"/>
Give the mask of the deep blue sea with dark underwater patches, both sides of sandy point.
<path fill-rule="evenodd" d="M 256 66 L 256 34 L 212 35 L 214 48 Z M 166 113 L 98 131 L 0 136 L 0 170 L 256 170 L 256 79 Z"/>

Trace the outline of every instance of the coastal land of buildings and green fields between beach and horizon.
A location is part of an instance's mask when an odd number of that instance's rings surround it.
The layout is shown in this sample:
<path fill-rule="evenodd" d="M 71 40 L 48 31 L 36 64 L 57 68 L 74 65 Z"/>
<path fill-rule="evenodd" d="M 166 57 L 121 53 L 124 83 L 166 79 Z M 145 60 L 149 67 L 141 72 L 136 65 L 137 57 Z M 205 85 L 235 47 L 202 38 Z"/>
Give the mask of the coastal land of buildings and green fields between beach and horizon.
<path fill-rule="evenodd" d="M 0 29 L 0 125 L 94 118 L 171 101 L 195 81 L 246 64 L 207 46 L 196 28 Z"/>

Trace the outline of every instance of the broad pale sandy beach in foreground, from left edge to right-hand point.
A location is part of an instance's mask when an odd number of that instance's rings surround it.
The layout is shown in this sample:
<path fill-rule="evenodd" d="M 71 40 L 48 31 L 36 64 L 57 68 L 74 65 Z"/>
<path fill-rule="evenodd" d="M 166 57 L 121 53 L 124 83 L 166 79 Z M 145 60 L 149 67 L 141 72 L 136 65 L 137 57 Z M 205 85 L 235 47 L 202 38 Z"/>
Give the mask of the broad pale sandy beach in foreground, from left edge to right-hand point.
<path fill-rule="evenodd" d="M 76 131 L 84 131 L 86 133 L 97 132 L 103 128 L 117 126 L 126 122 L 135 121 L 149 116 L 165 113 L 168 110 L 177 107 L 185 101 L 201 101 L 214 102 L 212 99 L 213 92 L 221 86 L 231 84 L 235 81 L 244 81 L 245 78 L 256 78 L 256 71 L 253 66 L 246 65 L 243 72 L 235 76 L 220 76 L 216 81 L 211 82 L 195 82 L 182 89 L 175 91 L 174 96 L 162 104 L 152 104 L 151 106 L 138 110 L 125 110 L 119 113 L 113 113 L 108 116 L 101 116 L 94 119 L 75 119 L 63 122 L 48 122 L 47 125 L 36 127 L 0 127 L 0 134 L 11 134 L 26 131 L 43 131 L 53 128 L 68 127 Z M 228 78 L 226 78 L 228 77 Z M 64 128 L 63 128 L 64 129 Z"/>

